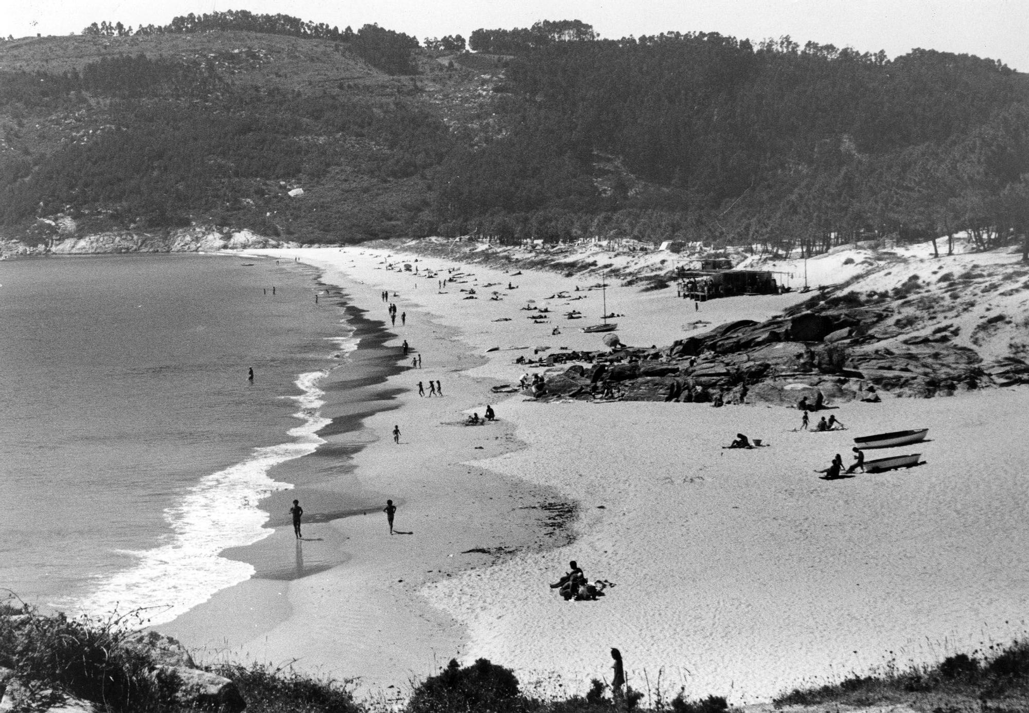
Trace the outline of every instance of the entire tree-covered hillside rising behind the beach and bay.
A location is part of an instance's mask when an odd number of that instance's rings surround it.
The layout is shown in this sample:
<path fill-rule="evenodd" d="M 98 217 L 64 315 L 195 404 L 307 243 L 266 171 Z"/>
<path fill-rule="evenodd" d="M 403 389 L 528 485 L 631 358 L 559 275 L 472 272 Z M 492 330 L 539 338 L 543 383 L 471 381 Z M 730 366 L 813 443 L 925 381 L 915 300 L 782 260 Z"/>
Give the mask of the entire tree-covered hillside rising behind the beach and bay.
<path fill-rule="evenodd" d="M 4 42 L 0 226 L 821 250 L 1029 224 L 1029 82 L 997 61 L 578 21 L 469 41 L 227 11 Z"/>

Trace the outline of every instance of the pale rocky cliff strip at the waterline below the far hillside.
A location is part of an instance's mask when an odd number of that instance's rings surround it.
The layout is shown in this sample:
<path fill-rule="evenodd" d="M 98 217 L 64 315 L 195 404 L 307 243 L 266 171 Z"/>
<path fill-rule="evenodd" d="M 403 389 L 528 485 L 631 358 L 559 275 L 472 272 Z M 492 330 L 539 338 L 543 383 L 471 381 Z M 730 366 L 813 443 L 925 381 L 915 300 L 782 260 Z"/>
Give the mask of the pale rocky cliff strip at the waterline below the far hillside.
<path fill-rule="evenodd" d="M 112 253 L 213 253 L 219 250 L 295 248 L 249 230 L 191 226 L 164 232 L 110 231 L 75 236 L 64 231 L 39 245 L 0 239 L 0 255 L 104 255 Z"/>

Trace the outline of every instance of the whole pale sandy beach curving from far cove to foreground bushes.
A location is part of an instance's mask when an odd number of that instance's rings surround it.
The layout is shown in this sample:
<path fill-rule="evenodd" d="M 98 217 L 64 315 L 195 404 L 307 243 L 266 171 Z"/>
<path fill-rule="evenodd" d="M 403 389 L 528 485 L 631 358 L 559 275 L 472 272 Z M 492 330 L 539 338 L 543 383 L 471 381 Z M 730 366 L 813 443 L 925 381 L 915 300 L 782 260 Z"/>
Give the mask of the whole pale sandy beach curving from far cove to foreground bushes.
<path fill-rule="evenodd" d="M 387 321 L 395 337 L 384 348 L 406 340 L 423 368 L 404 363 L 386 379 L 386 410 L 365 417 L 356 436 L 323 435 L 325 453 L 360 442 L 352 468 L 298 483 L 274 504 L 299 496 L 311 515 L 347 517 L 315 517 L 296 543 L 276 516 L 274 535 L 232 553 L 257 576 L 161 628 L 209 656 L 295 660 L 387 696 L 451 658 L 485 656 L 512 668 L 527 689 L 581 692 L 590 678 L 609 677 L 607 651 L 617 646 L 633 687 L 750 703 L 1025 631 L 1024 388 L 850 403 L 832 412 L 847 429 L 822 434 L 799 430 L 797 411 L 766 404 L 498 397 L 492 386 L 540 371 L 514 364 L 518 355 L 603 348 L 602 335 L 578 329 L 599 322 L 602 293 L 590 289 L 599 278 L 513 275 L 362 247 L 251 254 L 318 267 L 367 318 Z M 925 271 L 927 259 L 923 247 L 904 269 Z M 956 269 L 973 259 L 984 258 L 943 260 Z M 808 279 L 856 278 L 872 263 L 838 252 L 810 260 Z M 437 276 L 425 277 L 426 268 Z M 445 276 L 461 282 L 440 288 Z M 896 279 L 877 275 L 855 289 Z M 405 324 L 388 325 L 384 290 Z M 612 285 L 606 304 L 622 315 L 624 343 L 662 346 L 731 320 L 768 318 L 804 297 L 698 309 L 674 288 Z M 551 309 L 548 322 L 527 318 L 530 301 Z M 565 320 L 570 309 L 584 318 Z M 418 382 L 429 379 L 440 381 L 442 398 L 419 397 Z M 462 425 L 487 404 L 498 422 Z M 930 428 L 913 451 L 924 465 L 836 482 L 813 472 L 836 453 L 849 462 L 854 436 L 914 427 Z M 770 447 L 723 450 L 738 431 Z M 348 495 L 347 506 L 320 504 L 343 491 L 361 495 Z M 399 505 L 392 536 L 381 512 L 387 497 Z M 571 524 L 555 526 L 548 518 L 568 506 Z M 547 587 L 571 559 L 614 585 L 606 596 L 565 602 Z"/>

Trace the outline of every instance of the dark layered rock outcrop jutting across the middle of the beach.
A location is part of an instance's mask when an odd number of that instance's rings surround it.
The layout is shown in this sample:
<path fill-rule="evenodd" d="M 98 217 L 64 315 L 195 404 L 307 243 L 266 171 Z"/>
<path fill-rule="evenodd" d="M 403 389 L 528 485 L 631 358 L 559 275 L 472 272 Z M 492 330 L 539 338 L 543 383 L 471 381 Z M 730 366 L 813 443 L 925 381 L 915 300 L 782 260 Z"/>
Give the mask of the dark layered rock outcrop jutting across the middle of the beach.
<path fill-rule="evenodd" d="M 897 335 L 893 313 L 877 307 L 805 311 L 764 323 L 739 321 L 675 341 L 663 349 L 620 347 L 568 353 L 592 362 L 546 379 L 544 399 L 626 401 L 760 401 L 792 405 L 877 400 L 879 392 L 929 398 L 986 385 L 1029 383 L 1029 364 L 1014 358 L 983 365 L 979 354 L 939 338 L 882 342 Z M 560 352 L 525 362 L 553 366 Z"/>

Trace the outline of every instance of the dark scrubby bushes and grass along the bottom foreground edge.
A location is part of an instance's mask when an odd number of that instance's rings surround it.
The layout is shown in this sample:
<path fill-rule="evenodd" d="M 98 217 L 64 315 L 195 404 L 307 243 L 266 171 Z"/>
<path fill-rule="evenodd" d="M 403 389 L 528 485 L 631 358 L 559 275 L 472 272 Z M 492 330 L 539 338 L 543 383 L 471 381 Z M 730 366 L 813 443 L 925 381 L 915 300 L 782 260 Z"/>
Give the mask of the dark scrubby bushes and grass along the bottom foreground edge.
<path fill-rule="evenodd" d="M 41 615 L 21 602 L 0 605 L 0 689 L 11 677 L 46 700 L 62 695 L 92 701 L 102 710 L 177 713 L 197 710 L 176 697 L 179 681 L 162 666 L 161 652 L 136 642 L 139 615 L 103 621 Z M 155 634 L 144 641 L 163 639 Z M 169 642 L 171 640 L 164 639 Z M 174 642 L 172 641 L 174 644 Z M 177 646 L 177 644 L 175 644 Z M 183 653 L 183 655 L 186 655 Z M 9 671 L 4 676 L 4 669 Z M 235 683 L 249 711 L 260 713 L 364 713 L 375 702 L 358 702 L 353 681 L 313 678 L 290 668 L 217 665 L 207 671 Z M 1029 642 L 990 646 L 970 654 L 948 656 L 934 666 L 886 670 L 852 676 L 819 688 L 795 689 L 775 700 L 777 707 L 826 704 L 870 707 L 908 705 L 919 711 L 1029 709 Z M 242 705 L 242 704 L 241 704 Z M 969 708 L 970 707 L 970 708 Z M 406 713 L 720 713 L 724 698 L 688 701 L 679 690 L 629 688 L 612 696 L 598 679 L 584 697 L 542 701 L 525 696 L 513 673 L 481 659 L 467 667 L 451 661 L 439 674 L 414 685 Z"/>

